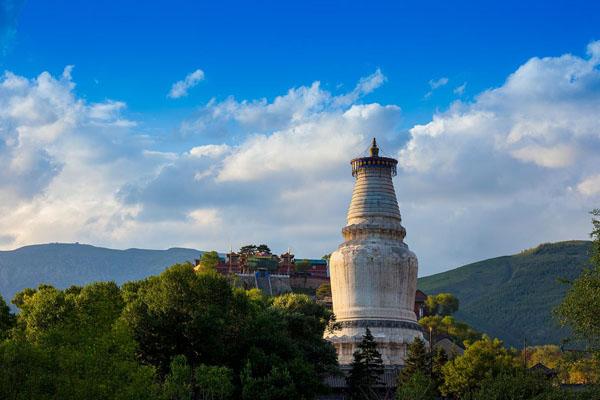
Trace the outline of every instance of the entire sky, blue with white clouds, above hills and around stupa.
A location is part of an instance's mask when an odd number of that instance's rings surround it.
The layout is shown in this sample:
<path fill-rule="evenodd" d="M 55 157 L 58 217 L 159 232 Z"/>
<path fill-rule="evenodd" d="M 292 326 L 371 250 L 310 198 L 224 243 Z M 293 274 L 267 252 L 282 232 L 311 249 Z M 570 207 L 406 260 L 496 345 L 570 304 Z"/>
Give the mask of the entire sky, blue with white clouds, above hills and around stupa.
<path fill-rule="evenodd" d="M 600 5 L 523 3 L 0 0 L 0 246 L 320 256 L 374 135 L 421 275 L 585 238 Z"/>

